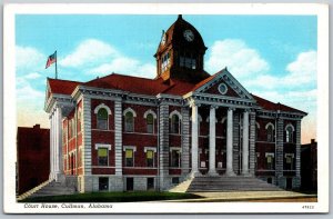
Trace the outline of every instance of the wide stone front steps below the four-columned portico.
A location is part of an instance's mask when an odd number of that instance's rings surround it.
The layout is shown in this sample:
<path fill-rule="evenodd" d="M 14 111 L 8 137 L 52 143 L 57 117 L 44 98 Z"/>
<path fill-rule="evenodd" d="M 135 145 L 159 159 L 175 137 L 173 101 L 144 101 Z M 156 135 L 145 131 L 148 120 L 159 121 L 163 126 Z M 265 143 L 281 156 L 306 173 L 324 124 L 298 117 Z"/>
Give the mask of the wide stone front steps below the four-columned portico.
<path fill-rule="evenodd" d="M 254 177 L 195 177 L 186 192 L 198 191 L 283 191 L 283 189 Z"/>

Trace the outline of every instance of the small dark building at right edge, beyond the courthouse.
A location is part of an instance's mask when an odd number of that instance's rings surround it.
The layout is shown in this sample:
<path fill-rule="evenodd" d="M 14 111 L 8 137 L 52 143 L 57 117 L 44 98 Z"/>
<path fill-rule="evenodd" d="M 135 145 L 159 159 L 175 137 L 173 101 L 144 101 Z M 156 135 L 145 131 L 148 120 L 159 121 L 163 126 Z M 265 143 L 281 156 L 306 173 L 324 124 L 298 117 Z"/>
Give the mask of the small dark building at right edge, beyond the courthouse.
<path fill-rule="evenodd" d="M 314 139 L 301 148 L 301 188 L 316 191 L 317 189 L 317 146 Z"/>

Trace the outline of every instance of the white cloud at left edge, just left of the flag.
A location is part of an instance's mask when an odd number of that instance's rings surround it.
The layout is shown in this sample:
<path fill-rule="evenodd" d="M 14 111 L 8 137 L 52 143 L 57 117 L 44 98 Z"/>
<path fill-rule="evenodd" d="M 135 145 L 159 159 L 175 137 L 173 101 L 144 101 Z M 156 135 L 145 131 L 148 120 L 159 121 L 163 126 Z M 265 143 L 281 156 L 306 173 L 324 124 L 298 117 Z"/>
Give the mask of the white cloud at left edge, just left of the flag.
<path fill-rule="evenodd" d="M 16 67 L 20 69 L 41 68 L 46 56 L 31 47 L 16 47 Z"/>

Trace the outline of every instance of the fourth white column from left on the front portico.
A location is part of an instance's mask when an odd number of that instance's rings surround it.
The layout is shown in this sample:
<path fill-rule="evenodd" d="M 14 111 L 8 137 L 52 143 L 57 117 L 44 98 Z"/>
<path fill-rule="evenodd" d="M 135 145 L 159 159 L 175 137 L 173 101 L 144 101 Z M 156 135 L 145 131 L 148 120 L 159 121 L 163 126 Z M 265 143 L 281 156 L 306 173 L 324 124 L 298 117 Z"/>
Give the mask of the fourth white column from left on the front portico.
<path fill-rule="evenodd" d="M 243 112 L 242 175 L 249 176 L 249 111 Z"/>

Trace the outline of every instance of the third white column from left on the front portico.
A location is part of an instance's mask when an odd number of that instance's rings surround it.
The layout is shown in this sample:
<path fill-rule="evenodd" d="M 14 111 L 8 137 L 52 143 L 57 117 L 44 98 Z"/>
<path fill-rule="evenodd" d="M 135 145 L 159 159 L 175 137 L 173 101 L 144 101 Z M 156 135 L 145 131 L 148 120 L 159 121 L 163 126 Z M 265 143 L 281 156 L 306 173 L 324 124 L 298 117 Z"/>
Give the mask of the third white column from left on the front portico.
<path fill-rule="evenodd" d="M 232 167 L 232 162 L 233 162 L 233 109 L 228 109 L 228 123 L 226 123 L 226 176 L 235 176 L 235 173 L 233 172 L 233 167 Z"/>

